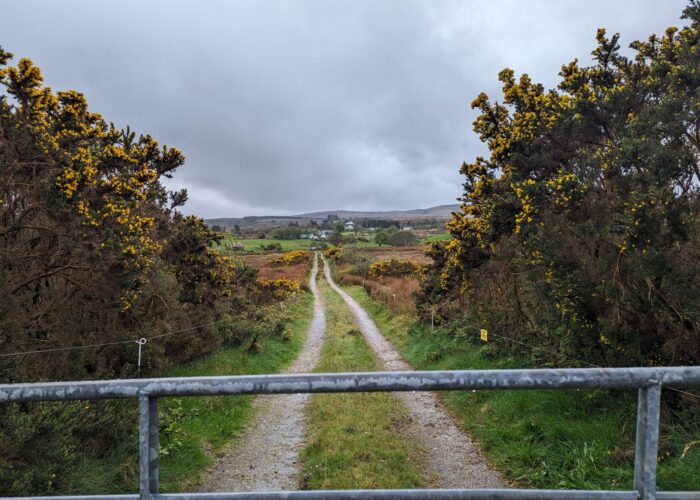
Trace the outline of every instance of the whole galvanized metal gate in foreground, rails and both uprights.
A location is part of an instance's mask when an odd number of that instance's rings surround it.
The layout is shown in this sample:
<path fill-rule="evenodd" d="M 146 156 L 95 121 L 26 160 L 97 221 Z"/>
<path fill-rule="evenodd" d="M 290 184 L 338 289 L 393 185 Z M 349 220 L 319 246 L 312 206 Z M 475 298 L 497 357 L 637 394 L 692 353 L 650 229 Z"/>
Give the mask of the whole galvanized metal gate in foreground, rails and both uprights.
<path fill-rule="evenodd" d="M 318 373 L 232 377 L 183 377 L 0 385 L 0 403 L 138 398 L 139 494 L 22 497 L 52 499 L 280 499 L 280 498 L 629 498 L 700 499 L 700 492 L 656 492 L 662 387 L 700 386 L 700 366 Z M 513 389 L 637 389 L 634 490 L 342 490 L 252 493 L 159 493 L 158 398 L 378 391 Z"/>

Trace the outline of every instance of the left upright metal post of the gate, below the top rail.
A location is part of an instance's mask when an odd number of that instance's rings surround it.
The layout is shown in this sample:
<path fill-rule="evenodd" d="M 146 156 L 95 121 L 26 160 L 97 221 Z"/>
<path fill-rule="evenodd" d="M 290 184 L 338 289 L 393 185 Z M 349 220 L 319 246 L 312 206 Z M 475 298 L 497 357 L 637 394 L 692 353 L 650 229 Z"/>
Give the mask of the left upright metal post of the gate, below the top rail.
<path fill-rule="evenodd" d="M 158 494 L 158 398 L 139 394 L 139 497 Z"/>

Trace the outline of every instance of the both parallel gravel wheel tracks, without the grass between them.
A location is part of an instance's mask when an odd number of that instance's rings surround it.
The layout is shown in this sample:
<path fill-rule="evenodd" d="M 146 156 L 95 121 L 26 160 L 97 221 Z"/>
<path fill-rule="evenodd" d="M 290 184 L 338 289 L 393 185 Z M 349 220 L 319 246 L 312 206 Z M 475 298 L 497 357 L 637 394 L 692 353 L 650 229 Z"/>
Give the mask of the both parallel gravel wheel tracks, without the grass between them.
<path fill-rule="evenodd" d="M 384 338 L 367 312 L 338 287 L 324 260 L 324 276 L 331 288 L 352 312 L 357 327 L 389 371 L 413 368 Z M 318 363 L 326 329 L 325 306 L 316 285 L 318 258 L 314 262 L 309 288 L 314 312 L 301 354 L 287 373 L 311 372 Z M 407 439 L 414 440 L 425 454 L 426 482 L 436 488 L 499 488 L 506 483 L 479 452 L 478 447 L 455 423 L 452 416 L 430 392 L 400 392 L 412 418 Z M 297 490 L 300 484 L 299 453 L 305 444 L 304 407 L 308 394 L 260 396 L 256 419 L 237 444 L 224 451 L 214 467 L 201 479 L 201 491 Z"/>

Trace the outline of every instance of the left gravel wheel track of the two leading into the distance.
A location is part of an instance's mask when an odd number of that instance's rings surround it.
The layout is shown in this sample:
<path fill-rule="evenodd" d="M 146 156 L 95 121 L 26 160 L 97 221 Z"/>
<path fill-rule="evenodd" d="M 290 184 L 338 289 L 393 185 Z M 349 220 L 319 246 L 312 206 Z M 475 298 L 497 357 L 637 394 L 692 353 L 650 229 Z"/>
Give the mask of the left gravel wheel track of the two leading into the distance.
<path fill-rule="evenodd" d="M 326 312 L 316 285 L 318 257 L 314 256 L 309 288 L 314 312 L 306 341 L 286 373 L 313 371 L 321 355 Z M 237 443 L 224 450 L 200 480 L 199 491 L 281 491 L 299 489 L 304 447 L 304 406 L 309 394 L 258 396 L 256 419 Z"/>

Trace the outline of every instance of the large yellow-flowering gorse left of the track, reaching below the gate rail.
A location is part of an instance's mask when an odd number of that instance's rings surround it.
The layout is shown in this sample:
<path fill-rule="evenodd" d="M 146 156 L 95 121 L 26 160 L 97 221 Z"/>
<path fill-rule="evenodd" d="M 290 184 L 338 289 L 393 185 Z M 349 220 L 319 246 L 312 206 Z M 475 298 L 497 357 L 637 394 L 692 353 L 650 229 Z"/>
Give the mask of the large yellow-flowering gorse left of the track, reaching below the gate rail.
<path fill-rule="evenodd" d="M 142 336 L 187 330 L 149 341 L 142 374 L 230 341 L 231 318 L 258 295 L 255 273 L 177 211 L 187 193 L 161 180 L 182 154 L 115 128 L 76 91 L 43 86 L 29 59 L 10 60 L 0 49 L 0 351 L 112 345 L 3 357 L 0 382 L 131 377 L 130 341 Z M 125 484 L 136 472 L 118 457 L 136 442 L 131 403 L 0 406 L 0 494 L 99 489 L 76 483 L 87 455 Z"/>

